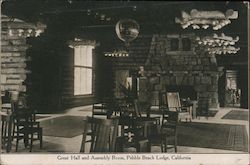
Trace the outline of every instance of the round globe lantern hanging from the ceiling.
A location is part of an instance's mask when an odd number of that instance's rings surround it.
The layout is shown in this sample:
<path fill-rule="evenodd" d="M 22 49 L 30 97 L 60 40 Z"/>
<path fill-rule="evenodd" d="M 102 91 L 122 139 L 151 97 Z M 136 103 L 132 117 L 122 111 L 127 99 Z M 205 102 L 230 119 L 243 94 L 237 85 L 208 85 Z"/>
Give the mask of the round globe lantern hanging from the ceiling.
<path fill-rule="evenodd" d="M 136 39 L 139 35 L 140 26 L 133 19 L 123 19 L 116 23 L 115 31 L 120 40 L 129 45 L 129 42 Z"/>

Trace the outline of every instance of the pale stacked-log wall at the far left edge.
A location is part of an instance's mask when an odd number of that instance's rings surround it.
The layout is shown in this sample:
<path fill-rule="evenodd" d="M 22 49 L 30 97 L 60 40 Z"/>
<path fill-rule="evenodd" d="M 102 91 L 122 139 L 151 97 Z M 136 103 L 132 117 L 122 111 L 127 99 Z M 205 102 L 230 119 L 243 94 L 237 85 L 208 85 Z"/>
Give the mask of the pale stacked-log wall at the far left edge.
<path fill-rule="evenodd" d="M 34 35 L 35 29 L 34 24 L 1 16 L 1 92 L 26 91 L 25 80 L 30 73 L 26 38 Z"/>

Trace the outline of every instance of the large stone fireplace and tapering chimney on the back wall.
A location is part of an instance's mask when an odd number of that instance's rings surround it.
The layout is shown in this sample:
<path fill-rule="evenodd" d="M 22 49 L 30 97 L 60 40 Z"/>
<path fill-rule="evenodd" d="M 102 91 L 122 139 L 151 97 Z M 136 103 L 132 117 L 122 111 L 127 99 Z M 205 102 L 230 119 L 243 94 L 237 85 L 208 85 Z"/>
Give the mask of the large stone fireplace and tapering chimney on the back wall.
<path fill-rule="evenodd" d="M 218 108 L 219 71 L 216 57 L 199 51 L 194 34 L 154 35 L 145 65 L 151 85 L 152 104 L 160 93 L 179 90 L 198 101 L 198 111 Z"/>

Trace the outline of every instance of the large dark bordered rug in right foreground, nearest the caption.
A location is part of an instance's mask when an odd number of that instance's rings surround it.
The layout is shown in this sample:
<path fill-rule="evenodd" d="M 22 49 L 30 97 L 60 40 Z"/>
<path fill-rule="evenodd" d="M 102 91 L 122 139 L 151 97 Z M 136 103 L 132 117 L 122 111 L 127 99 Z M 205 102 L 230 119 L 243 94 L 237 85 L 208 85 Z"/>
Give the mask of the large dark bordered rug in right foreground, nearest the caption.
<path fill-rule="evenodd" d="M 178 145 L 223 150 L 248 151 L 243 125 L 181 123 L 177 128 Z"/>

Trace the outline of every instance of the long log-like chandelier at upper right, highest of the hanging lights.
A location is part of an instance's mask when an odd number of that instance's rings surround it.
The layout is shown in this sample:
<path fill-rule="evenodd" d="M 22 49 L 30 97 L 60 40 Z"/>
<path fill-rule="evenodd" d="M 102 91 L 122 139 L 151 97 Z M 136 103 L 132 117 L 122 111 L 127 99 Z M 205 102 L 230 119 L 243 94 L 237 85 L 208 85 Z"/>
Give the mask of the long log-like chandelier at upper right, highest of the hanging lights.
<path fill-rule="evenodd" d="M 213 30 L 219 30 L 231 23 L 231 19 L 238 18 L 238 11 L 228 9 L 225 13 L 221 11 L 198 11 L 191 10 L 190 14 L 182 11 L 181 18 L 175 18 L 175 22 L 181 24 L 183 29 L 192 26 L 193 29 L 207 29 L 212 27 Z"/>

